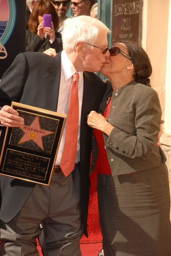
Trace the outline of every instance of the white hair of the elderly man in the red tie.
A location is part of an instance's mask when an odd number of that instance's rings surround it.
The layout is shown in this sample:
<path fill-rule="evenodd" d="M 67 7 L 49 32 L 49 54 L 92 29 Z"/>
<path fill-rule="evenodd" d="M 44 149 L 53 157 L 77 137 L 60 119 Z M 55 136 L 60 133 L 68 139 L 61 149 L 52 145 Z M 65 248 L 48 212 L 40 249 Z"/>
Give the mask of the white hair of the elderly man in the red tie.
<path fill-rule="evenodd" d="M 64 20 L 64 29 L 62 30 L 63 49 L 71 53 L 75 51 L 75 44 L 79 41 L 93 44 L 96 41 L 99 30 L 110 33 L 100 20 L 90 16 L 81 15 Z M 87 45 L 92 48 L 92 46 Z"/>

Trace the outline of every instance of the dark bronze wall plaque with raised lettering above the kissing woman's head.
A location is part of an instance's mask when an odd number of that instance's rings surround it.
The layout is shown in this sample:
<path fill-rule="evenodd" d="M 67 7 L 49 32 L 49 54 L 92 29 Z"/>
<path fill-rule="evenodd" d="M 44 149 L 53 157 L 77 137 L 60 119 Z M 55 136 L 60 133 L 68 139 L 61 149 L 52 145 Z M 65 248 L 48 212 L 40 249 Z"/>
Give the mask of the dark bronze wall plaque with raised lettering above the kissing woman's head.
<path fill-rule="evenodd" d="M 119 4 L 125 3 L 133 3 L 140 2 L 140 12 L 139 14 L 132 15 L 119 15 L 115 17 L 114 7 Z M 133 1 L 133 0 L 113 0 L 113 17 L 112 17 L 112 44 L 115 44 L 119 40 L 131 40 L 135 43 L 141 45 L 142 41 L 142 0 Z M 122 19 L 129 19 L 131 29 L 130 30 L 122 30 Z M 128 35 L 126 37 L 126 34 Z M 119 35 L 124 35 L 123 38 L 120 38 Z M 130 36 L 131 35 L 131 36 Z"/>

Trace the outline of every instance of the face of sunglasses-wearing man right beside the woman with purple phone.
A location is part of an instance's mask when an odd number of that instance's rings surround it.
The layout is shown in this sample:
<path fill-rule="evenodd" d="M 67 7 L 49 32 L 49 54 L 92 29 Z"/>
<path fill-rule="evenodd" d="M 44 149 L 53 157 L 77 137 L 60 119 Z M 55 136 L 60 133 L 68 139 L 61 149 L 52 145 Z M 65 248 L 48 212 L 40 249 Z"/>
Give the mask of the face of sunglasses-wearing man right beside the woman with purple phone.
<path fill-rule="evenodd" d="M 70 1 L 67 0 L 52 0 L 52 3 L 56 9 L 59 18 L 66 16 L 68 9 L 70 8 Z"/>

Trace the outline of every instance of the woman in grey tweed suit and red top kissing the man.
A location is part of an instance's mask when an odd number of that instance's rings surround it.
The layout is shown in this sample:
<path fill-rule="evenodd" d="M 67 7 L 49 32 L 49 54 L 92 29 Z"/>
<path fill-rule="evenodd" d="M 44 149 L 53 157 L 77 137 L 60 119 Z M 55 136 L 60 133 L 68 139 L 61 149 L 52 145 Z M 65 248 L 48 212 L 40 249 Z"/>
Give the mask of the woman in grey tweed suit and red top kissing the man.
<path fill-rule="evenodd" d="M 109 52 L 101 68 L 108 88 L 99 113 L 87 119 L 104 256 L 170 256 L 168 170 L 157 146 L 162 111 L 149 85 L 151 63 L 133 42 L 119 41 Z"/>

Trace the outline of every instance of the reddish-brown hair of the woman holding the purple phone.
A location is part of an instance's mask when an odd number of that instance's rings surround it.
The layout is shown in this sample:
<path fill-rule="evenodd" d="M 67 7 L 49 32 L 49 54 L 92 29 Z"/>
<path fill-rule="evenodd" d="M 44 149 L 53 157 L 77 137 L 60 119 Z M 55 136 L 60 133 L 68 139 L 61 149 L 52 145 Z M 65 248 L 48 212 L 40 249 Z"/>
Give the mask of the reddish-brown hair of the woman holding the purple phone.
<path fill-rule="evenodd" d="M 50 0 L 38 0 L 33 7 L 33 11 L 29 19 L 29 30 L 37 34 L 38 32 L 38 16 L 43 16 L 43 14 L 51 14 L 52 22 L 55 32 L 58 29 L 59 19 L 56 13 L 55 7 L 52 5 Z"/>

